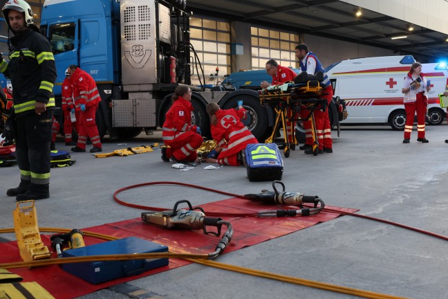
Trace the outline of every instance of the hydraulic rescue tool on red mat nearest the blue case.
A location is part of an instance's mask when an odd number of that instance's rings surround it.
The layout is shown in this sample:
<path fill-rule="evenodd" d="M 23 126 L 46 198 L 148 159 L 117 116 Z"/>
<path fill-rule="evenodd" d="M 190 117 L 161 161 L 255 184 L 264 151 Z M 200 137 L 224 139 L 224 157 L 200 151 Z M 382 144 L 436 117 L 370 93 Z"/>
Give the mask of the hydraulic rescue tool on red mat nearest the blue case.
<path fill-rule="evenodd" d="M 188 210 L 179 209 L 179 203 L 187 203 Z M 162 212 L 142 212 L 142 220 L 150 223 L 157 224 L 159 226 L 165 226 L 166 228 L 174 229 L 202 229 L 203 232 L 208 235 L 215 235 L 218 237 L 221 235 L 221 227 L 223 225 L 227 226 L 227 230 L 223 237 L 216 245 L 215 251 L 209 253 L 209 259 L 214 259 L 227 247 L 233 236 L 232 224 L 228 221 L 223 221 L 219 217 L 206 217 L 203 208 L 192 207 L 192 203 L 187 200 L 180 200 L 174 204 L 173 210 L 165 210 Z M 207 231 L 207 226 L 216 226 L 217 232 Z"/>

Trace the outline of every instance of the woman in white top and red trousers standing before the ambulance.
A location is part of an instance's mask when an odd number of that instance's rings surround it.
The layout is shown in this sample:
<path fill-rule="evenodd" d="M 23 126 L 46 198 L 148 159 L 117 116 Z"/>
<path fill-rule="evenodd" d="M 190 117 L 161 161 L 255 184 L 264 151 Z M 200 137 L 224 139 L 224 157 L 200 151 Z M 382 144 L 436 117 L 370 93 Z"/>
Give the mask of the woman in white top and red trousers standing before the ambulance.
<path fill-rule="evenodd" d="M 420 82 L 418 82 L 420 81 Z M 427 114 L 428 96 L 427 92 L 431 89 L 424 73 L 422 73 L 422 64 L 414 62 L 411 70 L 404 77 L 402 93 L 404 93 L 404 109 L 406 110 L 406 125 L 404 125 L 403 143 L 409 143 L 414 123 L 414 116 L 417 112 L 417 141 L 429 143 L 424 138 L 424 118 Z"/>

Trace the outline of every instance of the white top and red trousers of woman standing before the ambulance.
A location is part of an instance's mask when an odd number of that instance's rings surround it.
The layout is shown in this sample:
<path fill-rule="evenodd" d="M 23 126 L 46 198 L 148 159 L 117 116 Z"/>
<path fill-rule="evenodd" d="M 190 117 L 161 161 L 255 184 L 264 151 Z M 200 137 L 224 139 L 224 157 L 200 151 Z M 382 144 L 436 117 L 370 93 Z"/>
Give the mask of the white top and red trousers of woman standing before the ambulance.
<path fill-rule="evenodd" d="M 416 90 L 411 90 L 404 93 L 404 110 L 406 110 L 406 124 L 404 125 L 404 138 L 410 139 L 413 128 L 414 117 L 417 112 L 417 138 L 424 138 L 424 118 L 427 113 L 428 98 L 427 98 L 427 80 L 424 73 L 420 73 L 422 82 L 420 87 Z M 412 73 L 409 72 L 404 77 L 403 88 L 407 89 L 413 82 Z"/>

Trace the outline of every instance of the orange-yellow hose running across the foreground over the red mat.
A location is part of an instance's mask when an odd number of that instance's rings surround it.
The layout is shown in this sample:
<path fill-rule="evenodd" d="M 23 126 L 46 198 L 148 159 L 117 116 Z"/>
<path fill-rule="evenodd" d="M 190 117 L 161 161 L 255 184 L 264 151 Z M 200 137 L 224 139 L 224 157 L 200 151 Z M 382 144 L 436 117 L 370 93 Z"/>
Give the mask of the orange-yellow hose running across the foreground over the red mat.
<path fill-rule="evenodd" d="M 69 233 L 71 229 L 68 228 L 39 228 L 39 231 L 50 233 Z M 14 228 L 0 228 L 0 233 L 14 233 Z M 111 235 L 103 235 L 100 233 L 93 233 L 86 230 L 82 230 L 84 235 L 90 237 L 97 237 L 106 240 L 121 239 L 119 237 L 113 237 Z M 91 255 L 88 257 L 64 257 L 50 260 L 35 260 L 32 262 L 12 262 L 0 264 L 0 269 L 14 269 L 22 267 L 33 266 L 47 266 L 50 264 L 68 264 L 76 262 L 93 262 L 93 261 L 109 261 L 109 260 L 139 260 L 148 258 L 180 258 L 196 264 L 203 264 L 205 266 L 212 266 L 214 268 L 223 269 L 227 271 L 233 271 L 236 273 L 243 273 L 246 275 L 253 275 L 261 278 L 268 278 L 271 280 L 278 280 L 281 282 L 287 282 L 290 284 L 299 284 L 305 287 L 313 287 L 315 289 L 324 289 L 326 291 L 333 291 L 336 293 L 344 293 L 348 295 L 358 296 L 362 298 L 373 299 L 403 299 L 404 297 L 392 296 L 382 293 L 375 293 L 372 291 L 364 291 L 360 289 L 353 289 L 349 287 L 341 287 L 336 284 L 327 284 L 324 282 L 315 282 L 312 280 L 306 280 L 303 278 L 294 278 L 286 275 L 280 275 L 276 273 L 270 273 L 265 271 L 259 271 L 254 269 L 243 268 L 240 266 L 234 266 L 230 264 L 223 264 L 212 260 L 207 260 L 209 255 L 207 254 L 190 254 L 190 253 L 137 253 L 137 254 L 122 254 L 122 255 Z"/>

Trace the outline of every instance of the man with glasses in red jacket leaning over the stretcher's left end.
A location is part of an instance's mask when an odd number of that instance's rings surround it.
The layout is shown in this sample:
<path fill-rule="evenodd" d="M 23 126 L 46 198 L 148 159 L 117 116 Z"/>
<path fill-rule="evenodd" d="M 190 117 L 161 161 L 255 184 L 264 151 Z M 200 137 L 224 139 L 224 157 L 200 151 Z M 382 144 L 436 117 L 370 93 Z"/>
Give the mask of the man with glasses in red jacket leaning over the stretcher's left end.
<path fill-rule="evenodd" d="M 269 82 L 263 81 L 260 84 L 260 87 L 262 89 L 265 89 L 266 87 L 269 87 L 270 85 L 281 85 L 283 83 L 286 83 L 288 81 L 294 81 L 294 78 L 297 76 L 297 73 L 295 71 L 292 71 L 292 69 L 281 66 L 278 64 L 275 60 L 268 60 L 266 62 L 266 71 L 269 75 L 272 76 L 272 84 L 269 84 Z M 292 111 L 288 108 L 287 111 L 288 118 L 292 118 Z M 294 136 L 295 136 L 295 122 L 286 121 L 286 129 L 290 134 L 288 134 L 289 140 L 288 142 L 290 144 L 295 144 Z"/>

